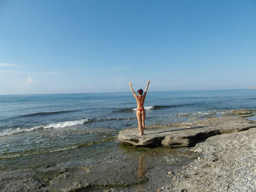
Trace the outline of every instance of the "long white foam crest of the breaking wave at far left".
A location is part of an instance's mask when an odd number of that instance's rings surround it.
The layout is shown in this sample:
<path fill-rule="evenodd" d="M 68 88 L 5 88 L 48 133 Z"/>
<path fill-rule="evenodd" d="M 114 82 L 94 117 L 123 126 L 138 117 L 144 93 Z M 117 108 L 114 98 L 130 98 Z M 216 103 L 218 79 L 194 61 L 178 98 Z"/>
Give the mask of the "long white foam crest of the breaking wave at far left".
<path fill-rule="evenodd" d="M 35 127 L 29 127 L 29 128 L 16 128 L 16 129 L 7 129 L 0 133 L 0 136 L 6 136 L 6 135 L 13 135 L 16 133 L 22 133 L 22 132 L 28 132 L 28 131 L 34 131 L 39 129 L 48 129 L 48 128 L 62 128 L 62 127 L 71 127 L 76 125 L 82 125 L 83 123 L 87 122 L 88 119 L 81 119 L 76 121 L 66 121 L 66 122 L 59 122 L 59 123 L 51 123 L 47 125 L 39 125 Z"/>

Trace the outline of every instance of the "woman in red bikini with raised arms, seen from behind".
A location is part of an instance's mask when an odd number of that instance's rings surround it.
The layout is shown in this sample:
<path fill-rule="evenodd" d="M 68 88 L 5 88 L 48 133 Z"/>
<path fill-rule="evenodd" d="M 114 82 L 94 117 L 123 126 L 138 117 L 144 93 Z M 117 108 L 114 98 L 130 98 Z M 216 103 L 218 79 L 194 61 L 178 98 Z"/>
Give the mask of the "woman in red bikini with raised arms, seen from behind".
<path fill-rule="evenodd" d="M 147 81 L 147 87 L 145 89 L 144 95 L 142 96 L 143 90 L 140 89 L 138 90 L 138 95 L 136 95 L 136 93 L 134 93 L 133 89 L 132 89 L 132 82 L 130 82 L 130 88 L 132 90 L 132 94 L 136 99 L 137 102 L 137 110 L 136 110 L 136 116 L 138 119 L 138 124 L 139 124 L 139 131 L 140 134 L 139 135 L 143 135 L 144 134 L 144 129 L 145 129 L 145 116 L 146 116 L 146 112 L 144 109 L 144 102 L 145 102 L 145 97 L 147 94 L 147 88 L 148 88 L 148 84 L 150 83 L 150 80 Z"/>

